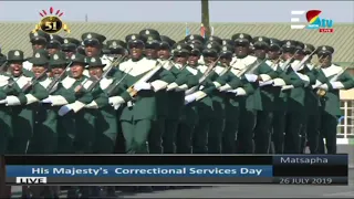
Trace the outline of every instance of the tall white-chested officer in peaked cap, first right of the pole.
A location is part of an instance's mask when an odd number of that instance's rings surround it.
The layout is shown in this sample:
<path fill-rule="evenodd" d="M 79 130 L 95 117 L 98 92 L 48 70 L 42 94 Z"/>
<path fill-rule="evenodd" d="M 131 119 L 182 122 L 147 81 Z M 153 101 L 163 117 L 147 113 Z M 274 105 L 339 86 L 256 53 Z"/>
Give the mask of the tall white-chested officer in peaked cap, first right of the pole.
<path fill-rule="evenodd" d="M 240 115 L 238 130 L 238 153 L 253 153 L 253 130 L 256 127 L 257 111 L 262 111 L 259 82 L 267 82 L 275 77 L 273 70 L 259 59 L 249 54 L 252 36 L 244 33 L 233 34 L 236 69 L 246 70 L 242 77 L 243 86 L 237 92 L 239 95 Z"/>

